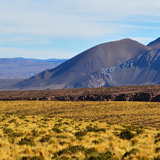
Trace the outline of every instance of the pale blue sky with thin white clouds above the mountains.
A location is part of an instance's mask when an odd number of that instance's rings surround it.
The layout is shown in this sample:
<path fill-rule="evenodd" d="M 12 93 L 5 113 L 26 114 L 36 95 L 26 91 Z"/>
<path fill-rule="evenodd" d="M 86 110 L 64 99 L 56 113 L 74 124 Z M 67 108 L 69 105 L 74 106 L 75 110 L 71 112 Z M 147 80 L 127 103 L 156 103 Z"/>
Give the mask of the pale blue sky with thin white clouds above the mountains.
<path fill-rule="evenodd" d="M 95 45 L 160 37 L 160 0 L 0 0 L 0 58 L 71 58 Z"/>

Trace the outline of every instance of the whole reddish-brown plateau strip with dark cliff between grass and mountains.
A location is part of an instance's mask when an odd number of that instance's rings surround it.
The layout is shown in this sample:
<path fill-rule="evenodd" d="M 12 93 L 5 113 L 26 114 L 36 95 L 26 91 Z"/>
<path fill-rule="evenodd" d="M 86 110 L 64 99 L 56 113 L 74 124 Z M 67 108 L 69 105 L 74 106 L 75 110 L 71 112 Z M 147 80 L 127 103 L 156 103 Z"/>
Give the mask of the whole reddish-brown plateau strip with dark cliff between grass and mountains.
<path fill-rule="evenodd" d="M 160 102 L 160 85 L 37 91 L 1 91 L 0 100 Z"/>

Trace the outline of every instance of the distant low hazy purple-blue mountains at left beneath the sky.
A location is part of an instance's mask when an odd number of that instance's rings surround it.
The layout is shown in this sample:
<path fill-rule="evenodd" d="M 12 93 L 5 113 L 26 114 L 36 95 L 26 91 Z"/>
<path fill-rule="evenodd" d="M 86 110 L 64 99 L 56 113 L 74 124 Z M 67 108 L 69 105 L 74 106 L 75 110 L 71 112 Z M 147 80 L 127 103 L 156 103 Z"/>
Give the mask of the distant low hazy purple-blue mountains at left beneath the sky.
<path fill-rule="evenodd" d="M 0 58 L 0 79 L 26 79 L 65 61 L 66 59 Z"/>

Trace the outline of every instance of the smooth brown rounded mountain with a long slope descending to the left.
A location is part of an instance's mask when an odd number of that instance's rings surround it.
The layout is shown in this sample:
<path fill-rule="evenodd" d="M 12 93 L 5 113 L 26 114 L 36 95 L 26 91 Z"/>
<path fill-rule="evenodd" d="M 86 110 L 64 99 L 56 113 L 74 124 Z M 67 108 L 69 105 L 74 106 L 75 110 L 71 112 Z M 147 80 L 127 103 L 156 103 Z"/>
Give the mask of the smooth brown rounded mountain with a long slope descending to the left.
<path fill-rule="evenodd" d="M 45 70 L 17 83 L 12 86 L 12 89 L 38 90 L 77 87 L 76 84 L 93 73 L 103 68 L 120 65 L 150 50 L 150 47 L 131 39 L 103 43 L 80 53 L 54 69 Z"/>

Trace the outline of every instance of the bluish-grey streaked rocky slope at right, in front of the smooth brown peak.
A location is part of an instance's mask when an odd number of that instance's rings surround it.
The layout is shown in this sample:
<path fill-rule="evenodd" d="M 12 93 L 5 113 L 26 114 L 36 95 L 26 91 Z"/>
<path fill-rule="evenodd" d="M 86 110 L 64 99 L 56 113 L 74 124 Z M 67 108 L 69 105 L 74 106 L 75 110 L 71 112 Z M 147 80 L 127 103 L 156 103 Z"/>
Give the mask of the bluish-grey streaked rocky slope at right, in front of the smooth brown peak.
<path fill-rule="evenodd" d="M 159 84 L 160 50 L 151 50 L 134 57 L 119 66 L 104 68 L 86 79 L 75 83 L 73 88 Z"/>

